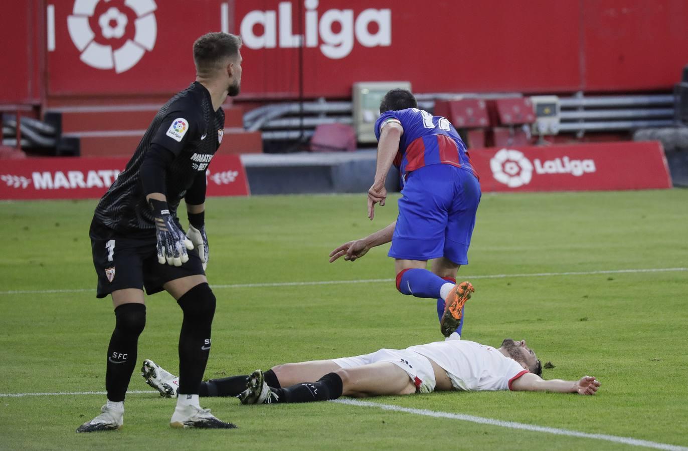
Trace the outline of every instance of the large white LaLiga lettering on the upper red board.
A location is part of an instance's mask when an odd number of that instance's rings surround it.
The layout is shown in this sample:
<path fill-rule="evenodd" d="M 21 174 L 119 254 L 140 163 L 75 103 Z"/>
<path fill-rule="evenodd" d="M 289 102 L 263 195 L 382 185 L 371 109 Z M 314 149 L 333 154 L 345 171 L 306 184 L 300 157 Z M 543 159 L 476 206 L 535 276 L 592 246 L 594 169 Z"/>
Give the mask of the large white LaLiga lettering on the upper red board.
<path fill-rule="evenodd" d="M 354 48 L 356 41 L 365 47 L 389 47 L 391 45 L 391 10 L 368 8 L 358 14 L 354 21 L 354 10 L 327 10 L 319 17 L 318 0 L 305 0 L 305 47 L 318 47 L 327 58 L 344 58 Z M 304 36 L 292 34 L 292 3 L 281 1 L 277 11 L 254 10 L 241 20 L 241 39 L 250 49 L 274 49 L 277 43 L 277 21 L 279 19 L 279 47 L 294 48 L 301 45 Z M 340 30 L 335 32 L 334 23 Z M 369 31 L 375 24 L 376 32 Z M 256 34 L 259 25 L 262 34 Z M 373 27 L 374 28 L 374 27 Z"/>

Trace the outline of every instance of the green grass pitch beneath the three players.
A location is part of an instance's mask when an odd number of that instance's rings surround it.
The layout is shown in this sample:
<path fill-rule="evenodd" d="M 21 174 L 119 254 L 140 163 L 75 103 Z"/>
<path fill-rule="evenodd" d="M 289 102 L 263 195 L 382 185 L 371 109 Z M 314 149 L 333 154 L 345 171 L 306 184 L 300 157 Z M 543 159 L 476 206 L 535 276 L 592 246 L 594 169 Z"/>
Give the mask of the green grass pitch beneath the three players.
<path fill-rule="evenodd" d="M 336 245 L 394 220 L 397 198 L 376 209 L 374 222 L 365 217 L 365 195 L 208 199 L 208 279 L 224 287 L 215 288 L 206 377 L 440 339 L 434 301 L 396 292 L 387 246 L 355 263 L 327 263 Z M 154 393 L 127 397 L 122 430 L 76 434 L 104 395 L 4 395 L 104 390 L 114 315 L 93 291 L 94 206 L 0 203 L 0 449 L 628 448 L 364 406 L 240 406 L 221 398 L 202 405 L 237 430 L 172 430 L 174 401 Z M 688 190 L 484 195 L 471 265 L 459 272 L 476 289 L 464 339 L 526 338 L 555 365 L 546 378 L 595 375 L 600 391 L 372 401 L 688 446 L 688 271 L 484 277 L 685 268 L 687 225 Z M 227 287 L 380 278 L 390 281 Z M 175 372 L 181 311 L 166 294 L 147 305 L 138 360 Z M 129 390 L 149 390 L 138 371 Z"/>

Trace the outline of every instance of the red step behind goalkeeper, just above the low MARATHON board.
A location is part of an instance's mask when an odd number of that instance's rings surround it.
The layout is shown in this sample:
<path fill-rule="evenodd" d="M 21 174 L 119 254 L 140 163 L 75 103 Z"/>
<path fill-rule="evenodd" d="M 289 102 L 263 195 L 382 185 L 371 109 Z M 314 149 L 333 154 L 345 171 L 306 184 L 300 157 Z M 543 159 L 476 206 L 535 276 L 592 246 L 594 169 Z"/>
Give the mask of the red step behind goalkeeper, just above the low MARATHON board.
<path fill-rule="evenodd" d="M 130 156 L 144 135 L 145 130 L 112 130 L 67 133 L 65 136 L 78 137 L 82 157 Z M 222 145 L 217 153 L 242 154 L 262 153 L 263 140 L 259 131 L 226 128 Z"/>

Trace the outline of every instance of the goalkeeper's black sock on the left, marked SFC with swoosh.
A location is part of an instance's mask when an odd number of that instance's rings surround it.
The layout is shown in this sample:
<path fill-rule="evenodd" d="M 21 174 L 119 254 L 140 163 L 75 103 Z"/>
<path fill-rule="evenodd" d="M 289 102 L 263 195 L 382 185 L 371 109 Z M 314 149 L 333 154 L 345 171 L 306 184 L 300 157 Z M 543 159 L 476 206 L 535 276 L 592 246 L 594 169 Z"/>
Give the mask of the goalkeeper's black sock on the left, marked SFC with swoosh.
<path fill-rule="evenodd" d="M 146 306 L 138 303 L 122 304 L 115 309 L 115 330 L 107 347 L 105 389 L 107 399 L 124 401 L 131 373 L 136 366 L 138 336 L 146 325 Z"/>

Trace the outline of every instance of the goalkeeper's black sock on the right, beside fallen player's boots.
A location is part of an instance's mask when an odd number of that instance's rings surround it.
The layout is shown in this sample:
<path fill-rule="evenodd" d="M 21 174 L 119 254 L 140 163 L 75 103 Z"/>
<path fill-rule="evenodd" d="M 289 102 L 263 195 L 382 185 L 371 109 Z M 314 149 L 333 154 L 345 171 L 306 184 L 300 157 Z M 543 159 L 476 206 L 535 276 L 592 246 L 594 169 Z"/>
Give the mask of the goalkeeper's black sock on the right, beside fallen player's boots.
<path fill-rule="evenodd" d="M 184 293 L 177 303 L 184 312 L 179 335 L 178 393 L 197 395 L 211 349 L 215 295 L 207 283 L 201 283 Z"/>

